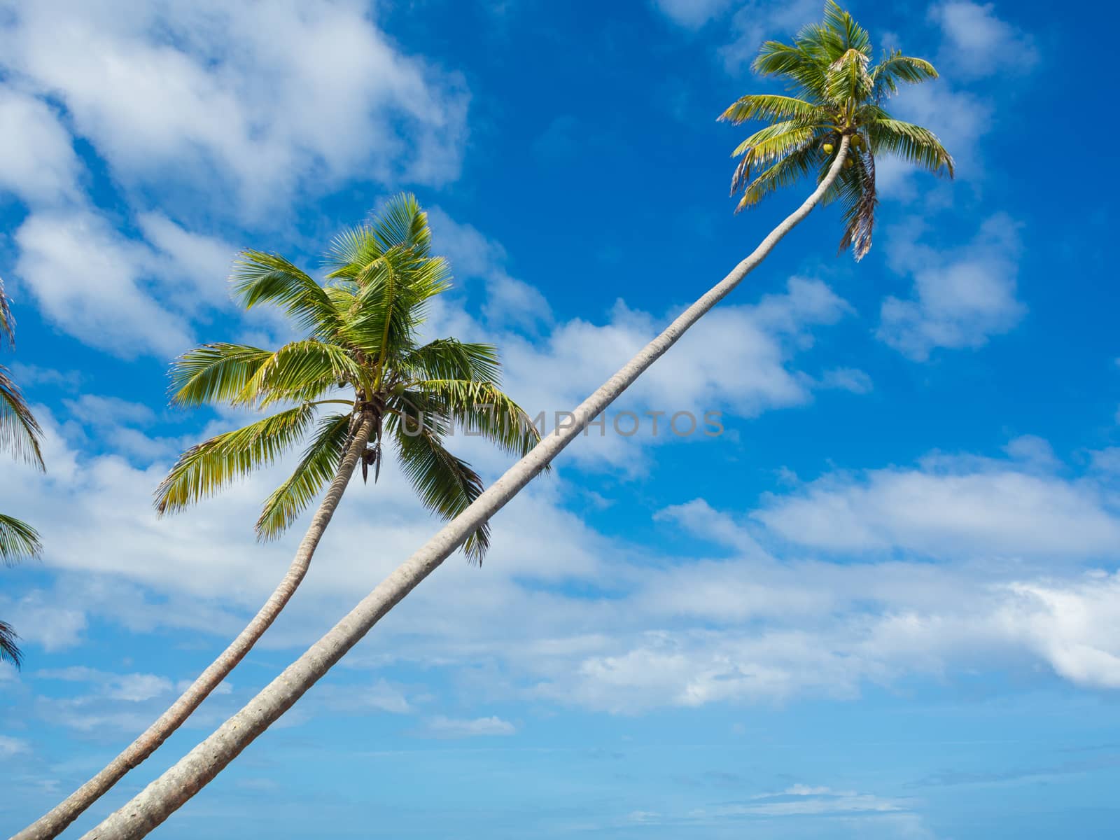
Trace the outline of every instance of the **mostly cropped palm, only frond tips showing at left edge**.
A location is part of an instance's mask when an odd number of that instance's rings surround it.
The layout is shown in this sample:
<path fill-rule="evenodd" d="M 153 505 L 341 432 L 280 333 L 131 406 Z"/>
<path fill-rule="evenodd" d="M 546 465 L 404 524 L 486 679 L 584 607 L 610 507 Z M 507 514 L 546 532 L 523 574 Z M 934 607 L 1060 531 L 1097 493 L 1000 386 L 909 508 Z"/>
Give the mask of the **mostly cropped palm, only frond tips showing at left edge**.
<path fill-rule="evenodd" d="M 3 280 L 0 280 L 0 344 L 7 342 L 16 348 L 16 319 L 11 315 Z M 8 368 L 0 365 L 0 448 L 8 449 L 18 459 L 45 469 L 39 438 L 43 429 L 27 405 L 19 388 L 12 382 Z M 0 513 L 0 562 L 12 566 L 24 558 L 38 557 L 41 549 L 39 534 L 26 522 Z M 7 622 L 0 622 L 0 661 L 8 660 L 16 668 L 24 661 L 17 641 L 19 636 Z"/>

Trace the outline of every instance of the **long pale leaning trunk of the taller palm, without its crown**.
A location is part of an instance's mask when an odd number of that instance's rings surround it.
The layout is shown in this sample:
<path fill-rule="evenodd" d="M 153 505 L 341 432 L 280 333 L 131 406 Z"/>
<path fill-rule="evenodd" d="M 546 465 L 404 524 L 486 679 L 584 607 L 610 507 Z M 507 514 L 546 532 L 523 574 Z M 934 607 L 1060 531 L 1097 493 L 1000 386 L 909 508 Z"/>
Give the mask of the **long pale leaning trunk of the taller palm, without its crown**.
<path fill-rule="evenodd" d="M 736 265 L 719 284 L 685 309 L 661 335 L 580 403 L 573 412 L 575 422 L 571 426 L 554 429 L 529 455 L 483 492 L 467 510 L 451 520 L 419 551 L 381 581 L 345 618 L 284 669 L 283 673 L 248 706 L 137 794 L 124 808 L 86 833 L 82 840 L 136 840 L 144 837 L 198 793 L 256 736 L 291 708 L 332 665 L 370 632 L 383 615 L 529 484 L 591 420 L 672 347 L 689 327 L 738 286 L 743 278 L 766 258 L 774 245 L 816 206 L 824 192 L 840 174 L 847 153 L 848 137 L 843 137 L 836 160 L 805 203 L 771 231 L 758 248 Z"/>

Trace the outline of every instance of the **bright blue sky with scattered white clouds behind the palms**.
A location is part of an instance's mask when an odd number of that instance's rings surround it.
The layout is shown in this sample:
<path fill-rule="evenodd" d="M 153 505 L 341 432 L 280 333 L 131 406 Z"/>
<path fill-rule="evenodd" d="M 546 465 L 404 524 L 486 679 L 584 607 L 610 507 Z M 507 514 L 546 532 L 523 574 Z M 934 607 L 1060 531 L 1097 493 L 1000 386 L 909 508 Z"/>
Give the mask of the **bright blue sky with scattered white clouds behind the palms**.
<path fill-rule="evenodd" d="M 164 838 L 1107 837 L 1120 814 L 1120 347 L 1094 12 L 868 2 L 942 78 L 894 103 L 955 181 L 883 164 L 875 248 L 815 213 L 619 410 L 724 433 L 590 436 L 449 560 Z M 243 625 L 299 528 L 253 541 L 282 467 L 159 521 L 175 456 L 239 419 L 166 404 L 235 310 L 245 246 L 315 268 L 388 195 L 430 211 L 433 335 L 496 342 L 531 412 L 575 405 L 801 196 L 732 215 L 715 116 L 820 3 L 418 0 L 0 4 L 6 355 L 46 475 L 0 510 L 0 830 L 87 778 Z M 1045 22 L 1044 22 L 1045 21 Z M 1100 28 L 1103 30 L 1103 27 Z M 1076 69 L 1068 57 L 1077 56 Z M 1074 73 L 1076 72 L 1076 76 Z M 506 466 L 477 440 L 488 477 Z M 122 804 L 436 528 L 390 466 Z"/>

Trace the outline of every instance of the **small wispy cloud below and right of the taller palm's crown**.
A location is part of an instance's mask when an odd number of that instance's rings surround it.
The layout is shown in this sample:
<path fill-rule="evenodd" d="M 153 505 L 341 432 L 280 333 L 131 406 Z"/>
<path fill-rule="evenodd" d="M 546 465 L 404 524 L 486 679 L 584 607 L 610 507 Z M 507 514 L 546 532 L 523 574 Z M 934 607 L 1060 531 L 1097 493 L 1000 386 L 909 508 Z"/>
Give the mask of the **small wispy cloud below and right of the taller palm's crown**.
<path fill-rule="evenodd" d="M 937 347 L 981 347 L 1012 329 L 1026 312 L 1016 298 L 1018 227 L 998 213 L 969 245 L 950 252 L 918 242 L 921 225 L 894 228 L 888 260 L 914 278 L 914 297 L 884 300 L 879 338 L 925 361 Z"/>

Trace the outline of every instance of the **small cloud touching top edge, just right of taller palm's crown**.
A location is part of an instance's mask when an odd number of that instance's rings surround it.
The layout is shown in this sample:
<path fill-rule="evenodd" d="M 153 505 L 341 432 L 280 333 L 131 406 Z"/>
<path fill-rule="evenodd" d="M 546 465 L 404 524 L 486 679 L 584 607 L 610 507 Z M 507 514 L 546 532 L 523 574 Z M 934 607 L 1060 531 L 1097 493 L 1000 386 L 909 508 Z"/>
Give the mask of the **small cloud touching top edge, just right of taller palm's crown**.
<path fill-rule="evenodd" d="M 935 3 L 930 19 L 944 36 L 939 60 L 958 75 L 1018 74 L 1038 60 L 1034 39 L 996 16 L 992 3 L 968 0 Z"/>

